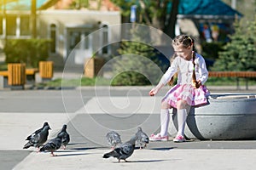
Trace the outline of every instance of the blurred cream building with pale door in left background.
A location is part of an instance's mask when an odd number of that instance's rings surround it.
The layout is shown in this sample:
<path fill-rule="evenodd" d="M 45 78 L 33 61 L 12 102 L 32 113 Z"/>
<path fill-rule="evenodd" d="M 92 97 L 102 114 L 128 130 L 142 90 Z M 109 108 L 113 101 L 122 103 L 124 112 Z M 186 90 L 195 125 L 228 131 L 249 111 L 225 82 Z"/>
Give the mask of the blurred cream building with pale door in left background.
<path fill-rule="evenodd" d="M 112 36 L 118 34 L 113 34 L 108 29 L 108 26 L 121 23 L 119 8 L 109 0 L 102 0 L 102 3 L 90 0 L 87 8 L 78 7 L 82 4 L 76 4 L 72 0 L 2 1 L 6 5 L 2 5 L 0 14 L 1 48 L 6 39 L 31 38 L 35 29 L 37 38 L 52 40 L 49 60 L 55 62 L 55 68 L 63 67 L 72 52 L 75 54 L 73 63 L 76 65 L 83 65 L 84 59 L 90 58 L 94 53 L 111 54 L 110 46 L 97 52 L 92 48 L 94 44 L 108 44 Z M 36 10 L 33 9 L 33 1 L 36 2 Z M 33 10 L 36 11 L 35 24 L 32 20 Z M 33 26 L 36 28 L 32 28 Z M 93 31 L 99 31 L 96 37 L 90 36 Z"/>

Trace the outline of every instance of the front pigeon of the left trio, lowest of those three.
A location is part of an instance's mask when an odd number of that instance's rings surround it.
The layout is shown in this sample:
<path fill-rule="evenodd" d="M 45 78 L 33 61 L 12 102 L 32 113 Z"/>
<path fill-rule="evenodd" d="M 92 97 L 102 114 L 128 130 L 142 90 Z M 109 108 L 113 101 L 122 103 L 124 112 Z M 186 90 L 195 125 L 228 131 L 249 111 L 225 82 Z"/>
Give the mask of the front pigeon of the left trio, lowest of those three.
<path fill-rule="evenodd" d="M 62 144 L 62 138 L 65 133 L 61 133 L 57 135 L 54 139 L 50 139 L 48 143 L 44 144 L 44 146 L 39 151 L 50 151 L 51 156 L 56 156 L 54 151 L 59 150 Z"/>

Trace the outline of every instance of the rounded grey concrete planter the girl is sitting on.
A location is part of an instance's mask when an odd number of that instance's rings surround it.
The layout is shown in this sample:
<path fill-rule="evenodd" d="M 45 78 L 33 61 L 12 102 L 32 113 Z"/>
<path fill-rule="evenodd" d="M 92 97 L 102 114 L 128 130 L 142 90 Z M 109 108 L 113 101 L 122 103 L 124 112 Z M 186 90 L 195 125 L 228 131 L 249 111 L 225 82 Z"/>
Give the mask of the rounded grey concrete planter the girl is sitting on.
<path fill-rule="evenodd" d="M 212 94 L 210 105 L 192 107 L 185 135 L 189 139 L 256 139 L 256 94 Z M 177 128 L 177 114 L 172 122 Z"/>

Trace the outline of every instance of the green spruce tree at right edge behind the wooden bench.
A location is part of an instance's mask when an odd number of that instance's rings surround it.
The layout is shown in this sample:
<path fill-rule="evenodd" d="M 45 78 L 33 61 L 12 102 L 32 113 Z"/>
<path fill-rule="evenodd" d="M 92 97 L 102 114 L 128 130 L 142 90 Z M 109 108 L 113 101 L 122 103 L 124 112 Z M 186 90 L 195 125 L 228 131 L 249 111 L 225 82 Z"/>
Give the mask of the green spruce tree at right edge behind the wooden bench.
<path fill-rule="evenodd" d="M 243 26 L 236 21 L 235 33 L 230 36 L 230 42 L 219 52 L 213 65 L 214 71 L 256 71 L 256 20 Z"/>

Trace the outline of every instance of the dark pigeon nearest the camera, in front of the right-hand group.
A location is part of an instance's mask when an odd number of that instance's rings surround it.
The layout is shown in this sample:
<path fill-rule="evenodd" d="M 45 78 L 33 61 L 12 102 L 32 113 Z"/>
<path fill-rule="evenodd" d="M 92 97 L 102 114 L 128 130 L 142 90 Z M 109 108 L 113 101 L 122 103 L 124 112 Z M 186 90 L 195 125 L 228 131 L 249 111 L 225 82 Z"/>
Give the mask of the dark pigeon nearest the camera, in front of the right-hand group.
<path fill-rule="evenodd" d="M 103 155 L 103 158 L 116 157 L 119 162 L 120 160 L 125 160 L 130 157 L 135 150 L 135 142 L 137 136 L 133 136 L 129 141 L 124 144 L 118 144 L 112 151 Z M 127 162 L 127 161 L 126 161 Z"/>

